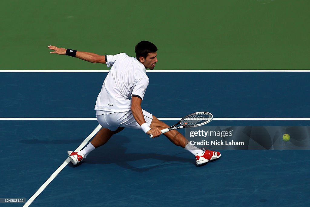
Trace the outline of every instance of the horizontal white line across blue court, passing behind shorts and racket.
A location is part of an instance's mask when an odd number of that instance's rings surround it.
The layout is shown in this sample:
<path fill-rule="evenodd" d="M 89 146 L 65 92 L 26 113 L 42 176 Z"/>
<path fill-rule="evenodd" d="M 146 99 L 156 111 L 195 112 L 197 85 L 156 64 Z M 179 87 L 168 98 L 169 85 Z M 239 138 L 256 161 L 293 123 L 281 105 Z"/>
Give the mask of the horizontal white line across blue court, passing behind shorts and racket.
<path fill-rule="evenodd" d="M 179 118 L 157 118 L 159 120 L 180 120 Z M 96 118 L 0 118 L 0 120 L 97 120 Z M 265 120 L 265 121 L 286 121 L 286 120 L 296 120 L 296 121 L 307 121 L 310 120 L 310 118 L 213 118 L 213 120 Z"/>

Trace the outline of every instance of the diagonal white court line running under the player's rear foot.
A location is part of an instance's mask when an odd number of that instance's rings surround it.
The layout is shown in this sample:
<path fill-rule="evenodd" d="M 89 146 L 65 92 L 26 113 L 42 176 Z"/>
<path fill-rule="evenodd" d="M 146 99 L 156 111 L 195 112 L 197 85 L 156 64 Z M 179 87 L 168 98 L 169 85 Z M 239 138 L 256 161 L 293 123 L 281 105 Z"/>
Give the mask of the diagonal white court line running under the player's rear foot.
<path fill-rule="evenodd" d="M 101 125 L 99 124 L 94 131 L 88 135 L 88 137 L 86 137 L 86 139 L 82 142 L 82 144 L 80 146 L 78 146 L 78 148 L 76 151 L 80 151 L 82 150 L 82 148 L 91 140 L 91 138 L 100 130 Z M 67 158 L 67 160 L 64 161 L 63 164 L 60 165 L 60 167 L 51 175 L 51 177 L 49 177 L 47 179 L 47 181 L 44 182 L 44 184 L 39 188 L 39 190 L 37 192 L 35 192 L 33 194 L 33 196 L 31 196 L 31 198 L 25 203 L 25 205 L 23 205 L 23 207 L 28 207 L 34 199 L 36 199 L 38 197 L 38 195 L 40 195 L 40 193 L 48 186 L 48 184 L 50 184 L 50 182 L 60 173 L 61 170 L 64 169 L 64 167 L 70 162 L 69 157 Z"/>

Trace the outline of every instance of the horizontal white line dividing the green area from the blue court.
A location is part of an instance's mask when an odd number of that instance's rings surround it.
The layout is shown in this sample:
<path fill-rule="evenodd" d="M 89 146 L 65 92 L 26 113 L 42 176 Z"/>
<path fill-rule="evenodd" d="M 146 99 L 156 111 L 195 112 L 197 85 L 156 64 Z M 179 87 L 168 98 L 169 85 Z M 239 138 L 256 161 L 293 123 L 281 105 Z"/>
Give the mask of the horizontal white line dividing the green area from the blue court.
<path fill-rule="evenodd" d="M 108 73 L 109 70 L 0 70 L 0 73 Z M 150 73 L 161 72 L 310 72 L 310 70 L 146 70 Z"/>

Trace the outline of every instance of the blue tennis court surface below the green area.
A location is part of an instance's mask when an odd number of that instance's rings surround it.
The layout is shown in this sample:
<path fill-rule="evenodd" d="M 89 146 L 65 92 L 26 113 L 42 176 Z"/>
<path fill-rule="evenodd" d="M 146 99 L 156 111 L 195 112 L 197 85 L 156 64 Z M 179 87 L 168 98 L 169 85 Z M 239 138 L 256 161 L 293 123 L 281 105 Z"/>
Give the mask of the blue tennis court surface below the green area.
<path fill-rule="evenodd" d="M 1 198 L 29 200 L 98 126 L 105 72 L 1 72 Z M 142 107 L 168 125 L 210 111 L 211 126 L 308 126 L 308 72 L 152 72 Z M 7 120 L 5 118 L 16 118 Z M 20 118 L 55 118 L 21 120 Z M 75 118 L 60 120 L 57 118 Z M 86 119 L 90 118 L 90 119 Z M 92 119 L 91 119 L 92 118 Z M 185 134 L 185 130 L 180 130 Z M 223 150 L 197 167 L 164 136 L 125 129 L 57 174 L 30 206 L 308 206 L 308 150 Z M 1 204 L 22 206 L 24 204 Z"/>

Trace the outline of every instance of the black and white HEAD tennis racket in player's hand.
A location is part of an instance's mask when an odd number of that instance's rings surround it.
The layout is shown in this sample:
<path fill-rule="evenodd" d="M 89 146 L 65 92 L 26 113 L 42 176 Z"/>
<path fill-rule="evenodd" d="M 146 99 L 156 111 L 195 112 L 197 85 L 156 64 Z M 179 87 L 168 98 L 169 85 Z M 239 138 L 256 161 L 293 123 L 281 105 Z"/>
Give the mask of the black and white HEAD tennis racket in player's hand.
<path fill-rule="evenodd" d="M 196 113 L 183 117 L 175 125 L 169 128 L 162 129 L 161 131 L 162 133 L 166 133 L 174 129 L 199 127 L 199 126 L 209 123 L 210 121 L 212 121 L 212 119 L 213 119 L 213 115 L 209 112 L 205 112 L 205 111 L 196 112 Z M 150 137 L 153 138 L 153 135 L 150 134 Z"/>

